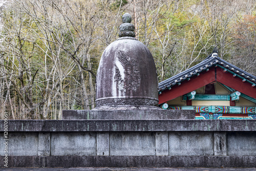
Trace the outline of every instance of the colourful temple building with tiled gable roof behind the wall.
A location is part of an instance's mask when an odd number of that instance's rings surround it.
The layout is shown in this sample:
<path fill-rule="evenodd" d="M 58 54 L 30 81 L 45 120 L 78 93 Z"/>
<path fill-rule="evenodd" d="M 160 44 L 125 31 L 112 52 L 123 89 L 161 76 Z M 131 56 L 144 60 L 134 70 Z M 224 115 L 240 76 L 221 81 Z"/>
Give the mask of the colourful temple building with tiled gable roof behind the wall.
<path fill-rule="evenodd" d="M 256 77 L 218 57 L 158 84 L 159 106 L 196 110 L 196 119 L 256 119 Z"/>

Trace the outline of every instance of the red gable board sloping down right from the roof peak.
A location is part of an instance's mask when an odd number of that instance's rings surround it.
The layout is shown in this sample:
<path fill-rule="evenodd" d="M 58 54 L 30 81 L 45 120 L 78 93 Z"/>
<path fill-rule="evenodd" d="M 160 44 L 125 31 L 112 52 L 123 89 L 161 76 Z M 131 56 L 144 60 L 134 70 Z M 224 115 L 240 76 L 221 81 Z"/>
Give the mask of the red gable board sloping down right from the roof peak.
<path fill-rule="evenodd" d="M 251 87 L 251 83 L 243 80 L 239 77 L 233 77 L 233 74 L 224 72 L 223 69 L 216 68 L 217 81 L 225 84 L 226 86 L 239 91 L 247 96 L 256 98 L 256 87 Z"/>

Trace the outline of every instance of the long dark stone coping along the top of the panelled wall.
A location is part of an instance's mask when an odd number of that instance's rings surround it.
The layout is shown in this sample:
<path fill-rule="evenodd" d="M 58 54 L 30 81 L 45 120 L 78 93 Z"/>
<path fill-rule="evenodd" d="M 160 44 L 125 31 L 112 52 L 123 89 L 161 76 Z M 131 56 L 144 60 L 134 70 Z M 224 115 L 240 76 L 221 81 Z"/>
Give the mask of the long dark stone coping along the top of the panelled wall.
<path fill-rule="evenodd" d="M 0 120 L 4 131 L 4 120 Z M 9 120 L 8 132 L 256 131 L 255 120 Z"/>

